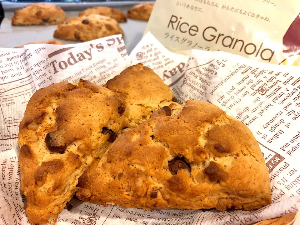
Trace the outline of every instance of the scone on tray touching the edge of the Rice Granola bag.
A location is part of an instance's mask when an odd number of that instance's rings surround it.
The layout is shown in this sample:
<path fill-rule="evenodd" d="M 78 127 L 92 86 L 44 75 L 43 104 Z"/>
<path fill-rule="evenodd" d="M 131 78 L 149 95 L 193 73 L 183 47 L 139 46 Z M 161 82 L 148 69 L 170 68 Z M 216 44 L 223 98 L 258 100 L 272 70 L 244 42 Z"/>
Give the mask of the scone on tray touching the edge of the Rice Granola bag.
<path fill-rule="evenodd" d="M 133 6 L 128 13 L 127 17 L 135 20 L 148 21 L 153 10 L 154 3 L 144 2 L 139 5 Z"/>

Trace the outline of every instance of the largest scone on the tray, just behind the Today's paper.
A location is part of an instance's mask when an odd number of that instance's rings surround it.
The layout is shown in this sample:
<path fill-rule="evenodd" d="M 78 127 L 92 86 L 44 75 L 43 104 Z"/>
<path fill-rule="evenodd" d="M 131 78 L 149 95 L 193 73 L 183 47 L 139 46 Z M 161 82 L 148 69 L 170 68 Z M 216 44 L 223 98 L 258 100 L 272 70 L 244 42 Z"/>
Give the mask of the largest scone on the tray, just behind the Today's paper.
<path fill-rule="evenodd" d="M 115 34 L 124 34 L 116 20 L 91 14 L 82 17 L 71 17 L 68 22 L 58 25 L 54 37 L 86 42 Z"/>

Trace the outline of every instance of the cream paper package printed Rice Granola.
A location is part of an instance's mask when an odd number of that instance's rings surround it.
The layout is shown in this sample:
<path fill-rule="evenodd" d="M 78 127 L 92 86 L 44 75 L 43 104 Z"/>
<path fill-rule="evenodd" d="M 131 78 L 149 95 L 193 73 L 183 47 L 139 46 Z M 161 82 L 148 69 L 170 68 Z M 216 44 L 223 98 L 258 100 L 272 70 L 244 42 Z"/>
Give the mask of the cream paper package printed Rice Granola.
<path fill-rule="evenodd" d="M 157 0 L 145 34 L 174 53 L 224 51 L 278 64 L 289 56 L 282 54 L 283 37 L 299 12 L 297 0 Z"/>

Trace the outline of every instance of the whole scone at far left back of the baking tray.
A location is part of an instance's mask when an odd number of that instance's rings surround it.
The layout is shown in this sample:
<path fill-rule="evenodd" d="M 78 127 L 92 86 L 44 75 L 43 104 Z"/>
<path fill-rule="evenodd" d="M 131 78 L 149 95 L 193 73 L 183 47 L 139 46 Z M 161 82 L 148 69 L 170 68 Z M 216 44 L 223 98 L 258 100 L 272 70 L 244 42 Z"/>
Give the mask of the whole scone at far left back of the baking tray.
<path fill-rule="evenodd" d="M 12 25 L 54 25 L 67 21 L 62 8 L 46 3 L 30 4 L 14 12 Z"/>

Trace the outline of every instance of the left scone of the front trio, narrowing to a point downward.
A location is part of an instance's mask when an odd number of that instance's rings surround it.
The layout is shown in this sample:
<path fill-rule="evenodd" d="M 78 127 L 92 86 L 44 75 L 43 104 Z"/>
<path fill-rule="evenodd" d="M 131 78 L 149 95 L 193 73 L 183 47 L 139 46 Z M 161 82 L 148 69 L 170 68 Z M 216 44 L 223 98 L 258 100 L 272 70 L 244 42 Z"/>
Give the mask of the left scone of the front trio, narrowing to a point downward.
<path fill-rule="evenodd" d="M 125 122 L 115 93 L 80 80 L 38 90 L 20 123 L 21 189 L 32 224 L 54 224 L 78 177 L 101 157 Z"/>

